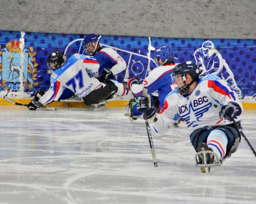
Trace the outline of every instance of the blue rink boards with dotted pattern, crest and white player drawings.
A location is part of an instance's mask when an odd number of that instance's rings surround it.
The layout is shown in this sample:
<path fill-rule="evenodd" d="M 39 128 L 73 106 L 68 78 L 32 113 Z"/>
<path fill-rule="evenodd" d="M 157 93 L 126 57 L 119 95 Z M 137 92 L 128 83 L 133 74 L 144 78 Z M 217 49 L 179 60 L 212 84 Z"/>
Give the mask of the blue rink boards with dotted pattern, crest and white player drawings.
<path fill-rule="evenodd" d="M 47 57 L 54 49 L 62 52 L 73 40 L 83 39 L 85 35 L 25 33 L 24 60 L 24 92 L 34 95 L 43 88 L 47 90 L 50 75 L 47 73 Z M 20 66 L 21 53 L 11 50 L 8 43 L 18 42 L 22 38 L 19 31 L 0 31 L 0 91 L 18 92 L 20 90 L 19 73 L 10 75 L 10 58 L 13 64 Z M 203 43 L 207 41 L 207 45 Z M 81 41 L 76 41 L 67 49 L 67 57 L 79 52 Z M 147 69 L 156 67 L 152 59 L 153 49 L 162 45 L 171 45 L 175 53 L 175 62 L 204 61 L 205 72 L 216 73 L 225 78 L 239 92 L 242 99 L 255 102 L 256 93 L 256 40 L 255 39 L 179 39 L 179 38 L 148 38 L 138 36 L 102 36 L 100 43 L 118 48 L 117 52 L 129 64 L 129 77 L 143 79 Z M 9 43 L 10 45 L 11 43 Z M 209 48 L 212 49 L 209 49 Z M 83 51 L 83 50 L 81 50 Z M 196 54 L 196 53 L 197 54 Z M 81 53 L 81 52 L 80 52 Z M 197 56 L 197 57 L 196 57 Z M 151 57 L 151 58 L 150 58 Z M 149 66 L 148 66 L 149 64 Z M 208 67 L 207 67 L 208 65 Z M 9 76 L 10 75 L 10 76 Z M 234 75 L 234 76 L 232 76 Z M 122 82 L 125 72 L 118 76 Z"/>

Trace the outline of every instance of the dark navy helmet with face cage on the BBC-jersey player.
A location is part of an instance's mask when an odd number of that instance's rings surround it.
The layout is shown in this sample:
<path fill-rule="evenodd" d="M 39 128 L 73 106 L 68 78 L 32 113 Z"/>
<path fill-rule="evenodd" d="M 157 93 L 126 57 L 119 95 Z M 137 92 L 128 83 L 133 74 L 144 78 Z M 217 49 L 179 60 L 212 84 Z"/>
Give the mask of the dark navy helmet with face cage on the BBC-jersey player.
<path fill-rule="evenodd" d="M 199 70 L 198 66 L 194 62 L 182 62 L 177 64 L 172 71 L 172 90 L 177 89 L 181 95 L 188 94 L 188 88 L 194 81 L 199 80 L 199 75 L 202 71 Z M 192 76 L 193 81 L 190 84 L 186 82 L 186 74 Z"/>

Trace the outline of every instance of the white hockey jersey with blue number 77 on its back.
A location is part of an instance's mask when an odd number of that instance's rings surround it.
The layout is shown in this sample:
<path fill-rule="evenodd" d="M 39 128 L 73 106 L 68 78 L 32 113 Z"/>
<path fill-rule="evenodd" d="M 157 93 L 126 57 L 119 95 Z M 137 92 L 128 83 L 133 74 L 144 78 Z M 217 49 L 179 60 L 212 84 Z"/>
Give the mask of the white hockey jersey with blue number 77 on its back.
<path fill-rule="evenodd" d="M 51 75 L 51 86 L 39 99 L 42 104 L 51 103 L 61 98 L 66 89 L 74 92 L 79 98 L 83 98 L 91 91 L 99 89 L 102 84 L 97 78 L 91 77 L 99 69 L 99 62 L 88 55 L 73 54 L 65 64 L 56 69 Z"/>

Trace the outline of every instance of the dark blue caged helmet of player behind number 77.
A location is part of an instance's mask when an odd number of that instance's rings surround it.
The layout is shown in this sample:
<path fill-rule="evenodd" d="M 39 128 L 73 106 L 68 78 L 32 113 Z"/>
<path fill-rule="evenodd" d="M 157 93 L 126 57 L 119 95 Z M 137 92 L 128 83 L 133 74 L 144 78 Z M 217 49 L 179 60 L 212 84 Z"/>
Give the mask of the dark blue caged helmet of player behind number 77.
<path fill-rule="evenodd" d="M 84 44 L 83 44 L 84 52 L 88 55 L 94 55 L 100 38 L 101 38 L 101 35 L 95 35 L 93 33 L 90 35 L 87 35 L 84 38 Z M 96 45 L 94 44 L 94 42 L 97 42 Z"/>

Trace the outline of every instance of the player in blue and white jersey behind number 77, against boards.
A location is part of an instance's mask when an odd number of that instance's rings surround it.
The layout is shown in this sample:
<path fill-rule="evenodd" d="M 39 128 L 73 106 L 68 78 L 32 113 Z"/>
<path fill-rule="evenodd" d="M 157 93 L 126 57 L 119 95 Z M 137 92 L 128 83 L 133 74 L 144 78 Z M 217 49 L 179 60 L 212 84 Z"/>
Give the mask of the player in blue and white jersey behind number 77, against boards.
<path fill-rule="evenodd" d="M 100 38 L 100 35 L 87 35 L 84 38 L 84 52 L 93 56 L 100 63 L 99 70 L 92 73 L 92 76 L 99 78 L 100 81 L 113 80 L 115 75 L 126 69 L 126 62 L 112 48 L 100 47 Z"/>

